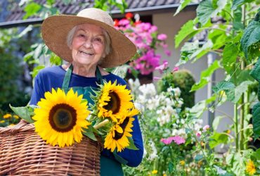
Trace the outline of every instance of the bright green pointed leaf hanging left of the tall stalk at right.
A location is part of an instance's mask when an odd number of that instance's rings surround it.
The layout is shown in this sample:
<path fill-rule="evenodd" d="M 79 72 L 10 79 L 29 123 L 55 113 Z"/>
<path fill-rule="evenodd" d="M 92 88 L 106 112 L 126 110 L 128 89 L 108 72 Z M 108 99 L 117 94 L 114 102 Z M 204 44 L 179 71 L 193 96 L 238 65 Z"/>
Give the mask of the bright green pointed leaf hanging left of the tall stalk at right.
<path fill-rule="evenodd" d="M 226 44 L 223 49 L 223 67 L 228 74 L 232 74 L 234 69 L 234 65 L 237 61 L 238 57 L 238 46 L 236 44 L 230 43 Z"/>

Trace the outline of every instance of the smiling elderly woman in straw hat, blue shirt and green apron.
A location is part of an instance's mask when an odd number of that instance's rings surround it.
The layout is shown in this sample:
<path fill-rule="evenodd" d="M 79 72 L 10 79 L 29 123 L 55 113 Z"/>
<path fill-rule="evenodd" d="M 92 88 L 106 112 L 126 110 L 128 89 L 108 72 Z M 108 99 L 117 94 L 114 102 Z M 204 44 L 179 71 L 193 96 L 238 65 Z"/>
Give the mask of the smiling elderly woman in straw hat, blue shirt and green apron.
<path fill-rule="evenodd" d="M 30 103 L 36 105 L 45 92 L 58 87 L 97 87 L 102 80 L 126 84 L 117 75 L 103 68 L 112 68 L 129 61 L 136 53 L 136 46 L 113 27 L 113 20 L 97 8 L 86 8 L 77 15 L 54 15 L 44 20 L 42 37 L 46 46 L 67 61 L 64 65 L 44 68 L 34 80 Z M 84 91 L 83 91 L 84 92 Z M 88 98 L 88 92 L 82 93 Z M 143 141 L 138 119 L 133 122 L 132 137 L 139 150 L 124 149 L 117 153 L 136 167 L 143 157 Z M 123 175 L 119 159 L 104 149 L 100 156 L 100 175 Z"/>

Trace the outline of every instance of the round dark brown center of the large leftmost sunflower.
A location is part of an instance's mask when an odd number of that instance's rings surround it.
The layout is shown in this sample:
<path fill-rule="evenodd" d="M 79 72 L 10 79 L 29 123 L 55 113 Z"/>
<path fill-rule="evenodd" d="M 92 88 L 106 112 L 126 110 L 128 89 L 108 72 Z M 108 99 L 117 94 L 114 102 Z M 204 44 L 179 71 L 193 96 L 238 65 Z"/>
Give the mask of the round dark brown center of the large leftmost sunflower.
<path fill-rule="evenodd" d="M 48 121 L 57 132 L 69 132 L 76 125 L 77 113 L 72 106 L 66 103 L 56 104 L 51 108 Z"/>

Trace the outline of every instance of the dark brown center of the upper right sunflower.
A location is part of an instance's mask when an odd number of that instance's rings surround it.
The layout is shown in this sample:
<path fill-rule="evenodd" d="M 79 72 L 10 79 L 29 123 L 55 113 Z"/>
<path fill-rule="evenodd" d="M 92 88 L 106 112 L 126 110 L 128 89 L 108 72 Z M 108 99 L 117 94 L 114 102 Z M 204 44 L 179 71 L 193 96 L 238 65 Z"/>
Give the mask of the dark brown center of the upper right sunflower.
<path fill-rule="evenodd" d="M 120 109 L 120 99 L 117 93 L 110 92 L 108 96 L 111 97 L 110 101 L 108 101 L 107 105 L 104 108 L 108 111 L 112 111 L 113 114 L 118 113 Z"/>

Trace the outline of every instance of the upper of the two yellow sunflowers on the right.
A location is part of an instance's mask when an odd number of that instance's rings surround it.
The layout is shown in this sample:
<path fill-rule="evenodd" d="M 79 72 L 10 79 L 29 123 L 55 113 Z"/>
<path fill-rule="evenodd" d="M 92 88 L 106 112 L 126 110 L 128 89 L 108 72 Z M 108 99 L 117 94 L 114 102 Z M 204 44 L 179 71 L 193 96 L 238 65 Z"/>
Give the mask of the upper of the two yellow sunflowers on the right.
<path fill-rule="evenodd" d="M 111 118 L 117 122 L 119 114 L 134 107 L 130 92 L 126 85 L 117 85 L 116 81 L 113 84 L 106 82 L 98 99 L 98 117 Z"/>

